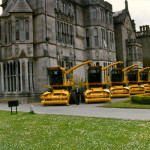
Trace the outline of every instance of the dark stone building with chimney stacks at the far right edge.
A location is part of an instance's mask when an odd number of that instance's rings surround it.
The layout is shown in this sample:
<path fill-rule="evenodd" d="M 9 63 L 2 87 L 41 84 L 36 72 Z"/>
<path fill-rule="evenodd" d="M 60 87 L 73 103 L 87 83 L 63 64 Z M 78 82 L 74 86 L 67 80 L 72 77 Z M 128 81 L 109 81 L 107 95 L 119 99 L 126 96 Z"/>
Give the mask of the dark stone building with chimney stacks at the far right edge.
<path fill-rule="evenodd" d="M 150 27 L 140 26 L 140 31 L 136 33 L 137 39 L 143 47 L 143 67 L 150 66 Z"/>

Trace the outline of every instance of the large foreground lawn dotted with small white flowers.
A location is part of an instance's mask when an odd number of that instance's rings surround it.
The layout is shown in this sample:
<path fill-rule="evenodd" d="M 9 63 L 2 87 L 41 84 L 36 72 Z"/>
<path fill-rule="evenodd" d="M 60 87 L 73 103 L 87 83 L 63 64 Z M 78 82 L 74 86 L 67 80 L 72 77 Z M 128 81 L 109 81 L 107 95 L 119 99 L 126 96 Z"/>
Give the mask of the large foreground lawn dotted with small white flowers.
<path fill-rule="evenodd" d="M 1 150 L 148 150 L 150 122 L 0 111 Z"/>

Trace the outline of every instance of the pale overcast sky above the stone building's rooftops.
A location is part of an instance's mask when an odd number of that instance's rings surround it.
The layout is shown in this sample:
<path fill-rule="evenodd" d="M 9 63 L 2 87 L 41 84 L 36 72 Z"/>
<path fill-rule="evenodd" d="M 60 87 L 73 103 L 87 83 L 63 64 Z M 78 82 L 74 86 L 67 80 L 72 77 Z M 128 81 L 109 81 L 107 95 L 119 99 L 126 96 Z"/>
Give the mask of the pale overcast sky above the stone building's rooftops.
<path fill-rule="evenodd" d="M 113 12 L 125 8 L 125 0 L 105 0 L 112 4 Z M 0 0 L 0 4 L 2 0 Z M 150 0 L 128 0 L 129 12 L 132 20 L 135 20 L 136 30 L 143 25 L 150 25 Z M 2 10 L 0 9 L 0 14 Z"/>

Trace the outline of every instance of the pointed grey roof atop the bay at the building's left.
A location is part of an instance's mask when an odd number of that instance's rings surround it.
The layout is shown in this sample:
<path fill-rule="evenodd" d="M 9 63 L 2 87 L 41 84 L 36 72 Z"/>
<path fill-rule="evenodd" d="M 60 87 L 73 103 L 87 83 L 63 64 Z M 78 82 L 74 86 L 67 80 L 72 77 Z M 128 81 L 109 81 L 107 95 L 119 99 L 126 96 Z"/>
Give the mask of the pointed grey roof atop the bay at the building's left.
<path fill-rule="evenodd" d="M 17 0 L 14 7 L 10 10 L 10 13 L 30 13 L 33 12 L 26 0 Z"/>

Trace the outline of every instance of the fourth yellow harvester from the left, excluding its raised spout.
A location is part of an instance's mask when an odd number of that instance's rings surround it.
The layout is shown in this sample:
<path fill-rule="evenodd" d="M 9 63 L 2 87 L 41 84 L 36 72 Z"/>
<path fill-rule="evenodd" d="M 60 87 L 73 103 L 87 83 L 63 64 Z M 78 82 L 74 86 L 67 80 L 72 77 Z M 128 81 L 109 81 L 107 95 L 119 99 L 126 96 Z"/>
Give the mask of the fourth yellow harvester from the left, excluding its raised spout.
<path fill-rule="evenodd" d="M 139 70 L 138 69 L 130 69 L 127 71 L 127 80 L 128 87 L 130 89 L 130 94 L 144 94 L 145 89 L 144 86 L 140 83 L 139 78 Z"/>

